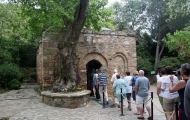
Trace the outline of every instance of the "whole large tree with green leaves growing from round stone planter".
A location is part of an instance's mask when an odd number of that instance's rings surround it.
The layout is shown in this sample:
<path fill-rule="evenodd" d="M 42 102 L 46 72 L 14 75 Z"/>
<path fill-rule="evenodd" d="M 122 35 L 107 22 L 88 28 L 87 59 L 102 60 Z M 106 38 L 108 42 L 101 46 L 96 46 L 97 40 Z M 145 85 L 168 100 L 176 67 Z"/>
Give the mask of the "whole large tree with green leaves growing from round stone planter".
<path fill-rule="evenodd" d="M 28 16 L 29 27 L 35 35 L 61 33 L 58 45 L 61 76 L 54 83 L 58 87 L 77 86 L 75 47 L 83 27 L 100 30 L 110 26 L 112 10 L 104 8 L 107 0 L 13 0 Z M 66 82 L 65 82 L 66 81 Z"/>

